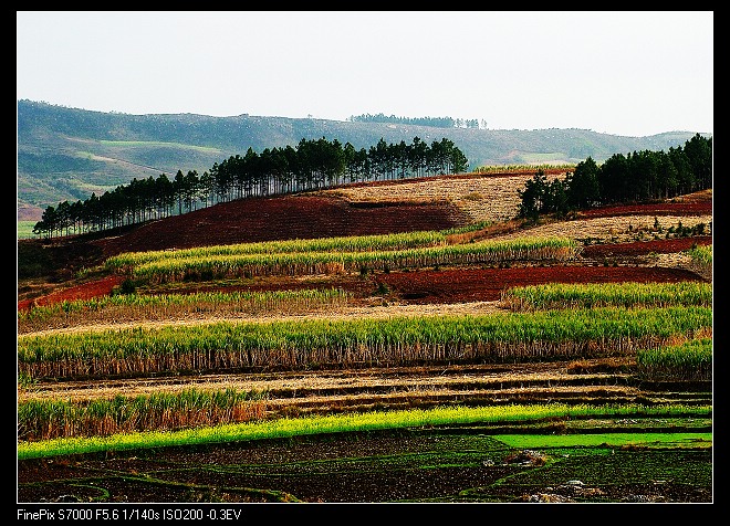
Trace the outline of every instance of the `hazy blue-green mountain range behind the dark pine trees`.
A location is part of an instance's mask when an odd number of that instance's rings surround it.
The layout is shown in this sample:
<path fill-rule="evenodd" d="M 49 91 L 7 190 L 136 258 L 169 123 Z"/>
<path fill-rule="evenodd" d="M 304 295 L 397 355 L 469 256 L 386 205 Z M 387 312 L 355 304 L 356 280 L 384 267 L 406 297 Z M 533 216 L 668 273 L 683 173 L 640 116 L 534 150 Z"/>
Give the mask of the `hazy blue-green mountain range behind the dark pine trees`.
<path fill-rule="evenodd" d="M 38 221 L 49 206 L 101 196 L 134 178 L 157 178 L 178 170 L 209 171 L 251 148 L 296 147 L 301 139 L 325 137 L 369 149 L 415 137 L 427 144 L 448 138 L 473 170 L 486 165 L 567 164 L 614 154 L 668 150 L 697 132 L 622 137 L 586 129 L 438 128 L 388 123 L 315 118 L 211 117 L 194 114 L 129 115 L 18 101 L 18 219 Z M 702 134 L 705 135 L 705 134 Z"/>

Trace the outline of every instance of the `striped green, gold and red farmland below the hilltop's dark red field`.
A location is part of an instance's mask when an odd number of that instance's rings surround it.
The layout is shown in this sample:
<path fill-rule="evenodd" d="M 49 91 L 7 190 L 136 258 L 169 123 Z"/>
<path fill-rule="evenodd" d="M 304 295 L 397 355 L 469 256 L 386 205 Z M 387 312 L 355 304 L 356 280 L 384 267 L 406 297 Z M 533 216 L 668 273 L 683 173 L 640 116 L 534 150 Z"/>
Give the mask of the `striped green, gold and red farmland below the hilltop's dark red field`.
<path fill-rule="evenodd" d="M 649 212 L 208 243 L 200 212 L 186 245 L 135 250 L 163 220 L 19 254 L 20 502 L 712 502 L 707 235 L 630 253 Z"/>

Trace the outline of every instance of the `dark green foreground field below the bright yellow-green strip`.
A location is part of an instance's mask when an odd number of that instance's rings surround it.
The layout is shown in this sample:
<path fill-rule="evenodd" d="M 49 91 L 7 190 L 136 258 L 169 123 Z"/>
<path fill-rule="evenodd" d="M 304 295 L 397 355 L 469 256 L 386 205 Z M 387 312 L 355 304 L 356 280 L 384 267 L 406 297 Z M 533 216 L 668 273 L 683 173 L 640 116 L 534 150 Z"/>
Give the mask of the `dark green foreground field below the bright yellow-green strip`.
<path fill-rule="evenodd" d="M 19 501 L 708 503 L 710 431 L 702 418 L 555 419 L 36 459 L 20 463 Z"/>

